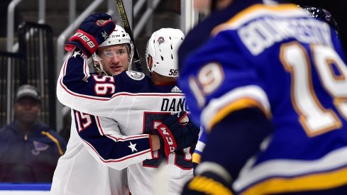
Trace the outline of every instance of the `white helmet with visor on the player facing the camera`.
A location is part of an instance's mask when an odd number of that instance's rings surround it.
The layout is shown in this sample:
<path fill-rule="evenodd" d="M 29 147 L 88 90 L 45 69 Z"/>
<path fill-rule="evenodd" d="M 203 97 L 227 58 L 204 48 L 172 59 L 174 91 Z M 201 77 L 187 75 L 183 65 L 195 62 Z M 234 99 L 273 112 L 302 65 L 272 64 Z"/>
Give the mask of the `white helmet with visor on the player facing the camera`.
<path fill-rule="evenodd" d="M 128 50 L 128 69 L 131 69 L 131 62 L 133 60 L 133 42 L 131 41 L 130 35 L 126 33 L 126 30 L 124 30 L 123 27 L 116 25 L 116 28 L 114 28 L 114 31 L 109 35 L 109 38 L 107 38 L 103 43 L 99 45 L 99 48 L 111 46 L 111 45 L 121 45 L 126 44 L 127 50 Z M 104 72 L 104 69 L 102 68 L 101 63 L 101 57 L 99 57 L 99 50 L 94 53 L 93 55 L 94 60 L 94 67 L 97 67 L 101 69 L 102 72 Z M 100 66 L 99 66 L 100 65 Z"/>

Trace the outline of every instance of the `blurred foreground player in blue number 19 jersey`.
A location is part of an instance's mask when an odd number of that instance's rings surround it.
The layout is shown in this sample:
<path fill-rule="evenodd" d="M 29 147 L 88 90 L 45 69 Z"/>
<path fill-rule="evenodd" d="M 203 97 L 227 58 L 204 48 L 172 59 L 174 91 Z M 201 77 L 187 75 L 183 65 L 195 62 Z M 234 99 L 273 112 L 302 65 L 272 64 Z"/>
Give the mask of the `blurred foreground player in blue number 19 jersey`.
<path fill-rule="evenodd" d="M 179 87 L 207 143 L 182 194 L 346 194 L 336 30 L 294 4 L 195 2 L 211 15 L 180 47 Z"/>

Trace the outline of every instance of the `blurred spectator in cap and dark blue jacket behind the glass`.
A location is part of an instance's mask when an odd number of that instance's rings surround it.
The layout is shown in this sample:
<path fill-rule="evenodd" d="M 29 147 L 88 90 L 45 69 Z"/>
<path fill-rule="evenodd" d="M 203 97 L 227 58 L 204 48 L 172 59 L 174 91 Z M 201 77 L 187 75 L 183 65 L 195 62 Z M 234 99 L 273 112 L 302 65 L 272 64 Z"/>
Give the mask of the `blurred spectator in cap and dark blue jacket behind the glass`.
<path fill-rule="evenodd" d="M 19 87 L 14 121 L 0 129 L 0 182 L 52 182 L 66 143 L 38 121 L 40 94 L 31 85 Z"/>

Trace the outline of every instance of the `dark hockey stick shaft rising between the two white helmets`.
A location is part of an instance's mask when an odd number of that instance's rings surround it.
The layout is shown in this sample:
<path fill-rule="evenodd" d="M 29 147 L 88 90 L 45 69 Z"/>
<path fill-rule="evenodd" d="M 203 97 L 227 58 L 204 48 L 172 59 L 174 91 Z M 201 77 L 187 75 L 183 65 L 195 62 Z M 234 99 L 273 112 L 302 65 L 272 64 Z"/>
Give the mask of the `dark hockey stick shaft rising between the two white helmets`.
<path fill-rule="evenodd" d="M 131 31 L 128 16 L 126 16 L 126 9 L 124 9 L 123 1 L 122 0 L 116 0 L 117 8 L 119 11 L 119 16 L 121 16 L 121 21 L 123 23 L 123 28 L 126 30 L 126 33 L 129 34 L 131 41 L 133 42 L 133 48 L 134 48 L 134 54 L 133 54 L 133 60 L 135 63 L 136 70 L 138 72 L 142 72 L 142 66 L 140 61 L 140 55 L 138 55 L 138 48 L 136 47 L 135 40 L 133 40 L 133 32 Z"/>

